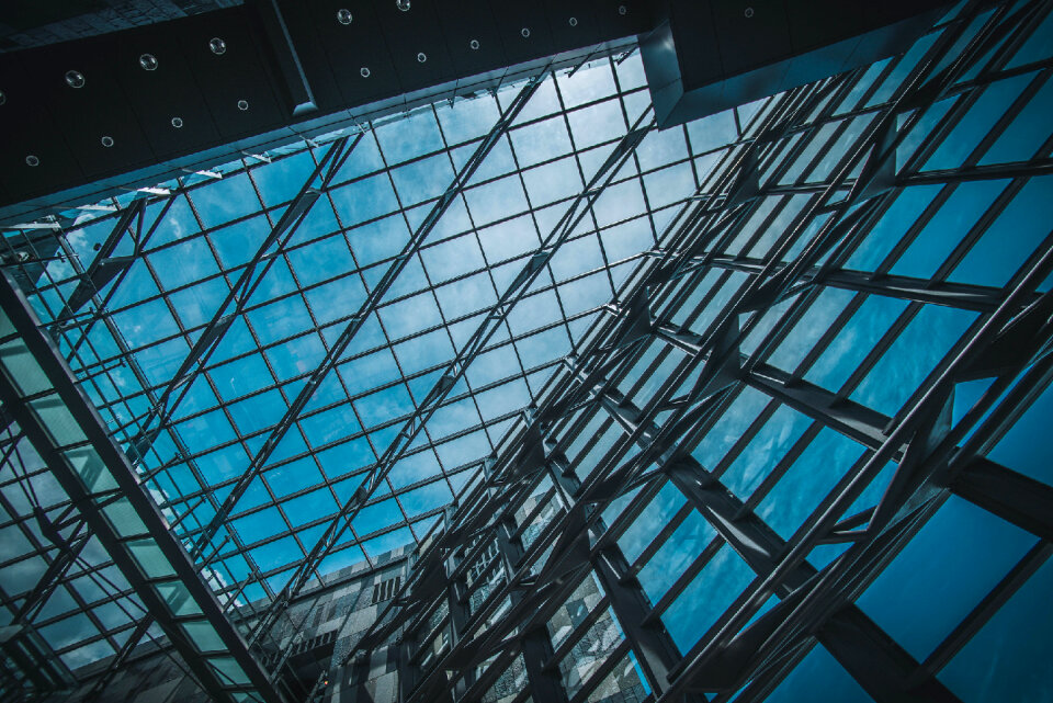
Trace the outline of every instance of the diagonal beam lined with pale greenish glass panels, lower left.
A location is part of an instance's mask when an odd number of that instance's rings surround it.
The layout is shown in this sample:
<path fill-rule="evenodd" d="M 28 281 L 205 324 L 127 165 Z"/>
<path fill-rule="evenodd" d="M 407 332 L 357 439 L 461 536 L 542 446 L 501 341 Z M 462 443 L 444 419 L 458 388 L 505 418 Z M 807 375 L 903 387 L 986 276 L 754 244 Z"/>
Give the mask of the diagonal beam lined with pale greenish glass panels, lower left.
<path fill-rule="evenodd" d="M 0 399 L 208 693 L 283 703 L 29 302 L 0 281 Z"/>

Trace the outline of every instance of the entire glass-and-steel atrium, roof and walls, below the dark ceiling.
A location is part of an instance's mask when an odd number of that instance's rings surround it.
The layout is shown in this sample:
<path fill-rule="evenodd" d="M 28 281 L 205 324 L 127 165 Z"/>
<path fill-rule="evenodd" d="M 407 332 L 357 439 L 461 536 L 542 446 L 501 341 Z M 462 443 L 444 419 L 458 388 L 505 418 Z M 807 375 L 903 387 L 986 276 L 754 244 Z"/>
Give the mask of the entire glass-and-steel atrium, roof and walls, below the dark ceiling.
<path fill-rule="evenodd" d="M 963 1 L 683 125 L 630 49 L 12 223 L 2 696 L 1053 700 L 1051 77 Z"/>

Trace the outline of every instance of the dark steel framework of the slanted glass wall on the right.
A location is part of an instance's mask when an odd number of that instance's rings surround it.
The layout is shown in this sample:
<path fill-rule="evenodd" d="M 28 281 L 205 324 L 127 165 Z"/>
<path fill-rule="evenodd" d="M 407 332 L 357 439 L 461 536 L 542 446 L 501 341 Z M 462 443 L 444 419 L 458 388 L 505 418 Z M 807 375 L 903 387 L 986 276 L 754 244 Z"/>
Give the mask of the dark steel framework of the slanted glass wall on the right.
<path fill-rule="evenodd" d="M 972 5 L 973 12 L 978 9 L 980 3 Z M 1053 379 L 1049 353 L 1053 348 L 1053 297 L 1041 292 L 1042 281 L 1053 272 L 1053 241 L 1048 237 L 1000 288 L 949 282 L 946 274 L 922 280 L 840 267 L 880 218 L 888 194 L 899 189 L 922 182 L 1011 178 L 1020 179 L 1007 190 L 1016 194 L 1026 179 L 1046 172 L 1045 159 L 1035 158 L 988 172 L 966 160 L 960 169 L 916 173 L 909 165 L 896 162 L 895 149 L 921 111 L 898 129 L 890 129 L 896 115 L 962 90 L 955 80 L 999 42 L 1015 37 L 1003 45 L 1004 61 L 1027 38 L 1027 29 L 1041 19 L 1039 10 L 1039 3 L 1016 13 L 998 8 L 971 38 L 965 34 L 967 21 L 960 18 L 955 29 L 947 31 L 904 80 L 898 98 L 874 111 L 872 128 L 847 150 L 831 180 L 820 185 L 768 188 L 756 172 L 771 169 L 770 182 L 775 183 L 780 167 L 765 163 L 774 150 L 770 145 L 800 131 L 816 103 L 828 100 L 824 91 L 843 97 L 852 81 L 835 80 L 785 95 L 779 107 L 754 127 L 757 136 L 752 143 L 725 157 L 707 194 L 673 223 L 660 248 L 610 306 L 611 315 L 592 330 L 588 344 L 566 360 L 566 367 L 543 393 L 543 402 L 524 415 L 502 443 L 502 451 L 485 463 L 477 484 L 448 511 L 442 528 L 424 541 L 414 577 L 339 665 L 353 668 L 362 653 L 395 638 L 400 643 L 404 700 L 476 700 L 521 657 L 529 688 L 518 695 L 509 694 L 508 689 L 492 695 L 577 702 L 632 651 L 648 684 L 648 698 L 655 701 L 700 695 L 711 701 L 733 696 L 759 701 L 822 643 L 875 701 L 956 701 L 936 673 L 1053 551 L 1049 542 L 1053 536 L 1049 517 L 1053 488 L 984 457 Z M 963 16 L 975 15 L 966 12 Z M 949 54 L 952 48 L 961 53 Z M 988 56 L 985 60 L 998 66 L 998 59 Z M 836 102 L 835 98 L 827 104 Z M 1000 124 L 1008 125 L 1015 116 L 1007 114 Z M 946 123 L 943 129 L 949 132 L 953 124 Z M 986 144 L 997 136 L 996 132 Z M 922 157 L 913 162 L 924 162 L 924 154 L 931 149 L 922 148 Z M 815 156 L 820 158 L 822 151 Z M 789 163 L 782 168 L 785 166 Z M 724 248 L 744 234 L 756 204 L 777 193 L 812 193 L 814 197 L 775 242 L 773 253 L 763 259 L 725 253 Z M 784 253 L 819 215 L 833 216 L 788 260 Z M 982 222 L 989 226 L 993 219 L 988 216 Z M 763 227 L 756 231 L 754 240 Z M 747 242 L 739 251 L 749 248 Z M 704 331 L 698 333 L 687 324 L 675 322 L 678 314 L 682 317 L 684 305 L 692 306 L 695 315 L 706 309 L 712 298 L 703 296 L 699 302 L 691 299 L 691 294 L 700 290 L 703 275 L 720 271 L 746 274 L 745 282 L 722 299 L 721 307 L 707 317 Z M 718 282 L 727 280 L 724 274 Z M 905 320 L 925 305 L 978 316 L 895 417 L 890 417 L 849 398 L 851 387 L 873 370 L 888 341 L 865 358 L 841 392 L 766 362 L 817 294 L 827 288 L 851 292 L 860 302 L 871 295 L 904 301 L 908 306 Z M 784 302 L 790 306 L 781 305 Z M 858 309 L 858 304 L 849 309 Z M 744 340 L 772 314 L 774 324 L 760 328 L 760 341 L 751 353 L 744 353 Z M 837 327 L 826 332 L 825 343 L 847 318 L 842 315 Z M 901 322 L 893 330 L 898 335 L 903 328 Z M 659 360 L 681 361 L 655 379 L 659 389 L 638 406 L 619 390 L 624 387 L 619 384 L 635 377 L 638 381 L 631 385 L 639 388 L 648 381 L 657 361 L 643 372 L 637 368 L 633 376 L 627 374 L 645 358 L 653 359 L 645 353 L 656 345 L 663 349 Z M 977 379 L 988 381 L 988 388 L 964 416 L 954 419 L 955 388 Z M 772 400 L 769 410 L 754 422 L 718 470 L 706 468 L 691 452 L 701 436 L 718 427 L 744 387 L 768 396 Z M 833 429 L 865 449 L 834 491 L 817 501 L 812 517 L 790 541 L 758 514 L 758 498 L 739 498 L 721 478 L 779 406 L 813 422 L 797 443 L 802 449 L 820 428 Z M 609 419 L 589 422 L 600 417 Z M 602 454 L 592 455 L 589 447 L 599 446 L 599 438 L 589 433 L 603 433 L 603 428 L 618 428 L 612 431 L 616 439 L 604 445 L 609 449 Z M 576 458 L 568 460 L 570 446 L 582 443 Z M 759 489 L 761 494 L 771 489 L 801 451 L 795 449 L 779 462 Z M 847 512 L 888 461 L 896 469 L 880 500 L 863 512 Z M 587 478 L 579 478 L 582 475 Z M 667 484 L 686 499 L 684 507 L 627 563 L 619 537 L 641 519 Z M 1040 542 L 925 661 L 918 661 L 853 601 L 951 495 L 1016 524 Z M 605 515 L 612 503 L 630 496 L 620 515 L 609 523 Z M 550 503 L 555 509 L 541 520 Z M 641 567 L 695 512 L 717 537 L 663 598 L 650 603 L 639 590 Z M 523 544 L 524 533 L 539 521 L 541 532 L 529 545 Z M 491 544 L 496 549 L 488 548 Z M 826 567 L 816 568 L 805 559 L 823 544 L 848 547 Z M 756 577 L 709 633 L 681 656 L 666 633 L 661 613 L 721 545 L 734 549 Z M 486 566 L 490 564 L 498 565 L 501 578 L 480 588 L 479 579 L 471 575 L 494 568 Z M 546 623 L 570 593 L 589 580 L 589 574 L 602 599 L 576 625 L 575 634 L 554 647 L 550 639 L 555 633 L 551 626 L 546 630 Z M 476 591 L 483 594 L 479 604 L 473 596 Z M 761 611 L 772 596 L 779 602 Z M 622 644 L 608 653 L 604 665 L 592 671 L 581 688 L 570 691 L 568 680 L 557 676 L 558 665 L 570 653 L 575 637 L 586 635 L 608 606 L 622 626 Z M 364 683 L 364 672 L 358 676 L 360 684 Z M 625 685 L 625 680 L 621 683 Z"/>

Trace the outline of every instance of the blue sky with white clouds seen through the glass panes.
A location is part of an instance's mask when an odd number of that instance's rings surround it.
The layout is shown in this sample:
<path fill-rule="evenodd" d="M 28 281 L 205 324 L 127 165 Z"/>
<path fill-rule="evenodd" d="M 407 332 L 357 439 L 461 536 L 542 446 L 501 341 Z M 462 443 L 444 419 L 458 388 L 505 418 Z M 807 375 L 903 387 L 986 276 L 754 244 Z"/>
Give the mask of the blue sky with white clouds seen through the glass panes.
<path fill-rule="evenodd" d="M 1034 52 L 1029 43 L 1021 55 Z M 920 49 L 909 53 L 902 61 L 903 70 L 920 54 Z M 861 86 L 875 81 L 883 66 L 867 72 Z M 1033 156 L 1050 136 L 1048 115 L 1053 107 L 1053 83 L 1039 70 L 977 89 L 966 118 L 919 167 L 961 166 L 997 117 L 1032 82 L 1033 98 L 980 157 L 980 163 Z M 615 97 L 619 88 L 624 93 L 621 98 Z M 887 100 L 892 88 L 883 84 L 879 94 Z M 395 265 L 393 257 L 517 90 L 510 87 L 496 95 L 416 111 L 378 123 L 362 135 L 327 195 L 310 208 L 284 251 L 267 262 L 259 285 L 245 301 L 247 311 L 226 332 L 206 373 L 189 387 L 173 412 L 172 430 L 161 435 L 146 460 L 146 468 L 169 465 L 152 488 L 157 496 L 177 503 L 176 513 L 186 509 L 179 503 L 180 496 L 204 492 L 222 499 L 230 490 L 259 452 L 269 428 L 302 388 L 304 377 L 317 367 L 349 316 Z M 863 92 L 852 91 L 839 114 L 856 107 Z M 901 147 L 899 166 L 958 100 L 963 98 L 948 98 L 921 115 Z M 248 553 L 254 566 L 278 571 L 269 588 L 281 588 L 287 578 L 283 569 L 310 549 L 327 519 L 394 441 L 405 418 L 646 106 L 643 72 L 635 56 L 616 68 L 601 61 L 573 78 L 550 78 L 539 89 L 464 196 L 455 200 L 420 252 L 407 261 L 380 308 L 370 315 L 336 370 L 319 384 L 297 426 L 239 501 L 233 532 L 241 544 L 251 545 Z M 759 102 L 740 109 L 739 122 L 747 125 L 762 106 Z M 833 139 L 836 125 L 817 129 L 799 163 L 781 182 L 826 178 L 831 159 L 812 168 L 805 163 L 828 141 L 835 155 L 843 152 L 869 124 L 865 115 L 846 120 L 851 122 L 838 140 Z M 537 397 L 553 364 L 580 342 L 597 319 L 598 308 L 614 298 L 638 265 L 639 254 L 660 243 L 656 237 L 680 211 L 683 199 L 698 190 L 724 156 L 726 145 L 737 139 L 732 111 L 683 128 L 655 131 L 644 139 L 634 159 L 597 201 L 592 215 L 553 258 L 507 325 L 453 388 L 449 402 L 395 465 L 375 501 L 356 515 L 353 536 L 349 533 L 341 542 L 341 546 L 351 546 L 330 556 L 324 571 L 373 559 L 423 535 L 434 518 L 421 515 L 450 502 L 461 490 L 478 461 L 508 430 L 511 418 Z M 147 410 L 144 384 L 160 388 L 186 358 L 240 268 L 330 148 L 330 144 L 304 144 L 292 156 L 254 165 L 248 171 L 220 169 L 226 173 L 223 179 L 206 179 L 202 186 L 178 192 L 163 216 L 161 199 L 147 208 L 147 225 L 156 223 L 156 229 L 145 258 L 137 260 L 118 284 L 103 291 L 112 294 L 107 307 L 113 310 L 120 340 L 134 350 L 141 371 L 137 377 L 131 370 L 117 367 L 89 386 L 92 399 L 106 406 L 104 417 L 111 427 L 132 422 Z M 1019 192 L 1008 180 L 974 181 L 956 188 L 903 188 L 886 197 L 887 208 L 843 265 L 1003 286 L 1049 236 L 1044 215 L 1051 179 L 1033 178 Z M 1011 202 L 987 226 L 989 208 L 1010 196 Z M 741 235 L 726 242 L 723 253 L 763 259 L 788 234 L 805 200 L 803 195 L 765 196 L 754 206 Z M 747 247 L 772 214 L 767 230 Z M 919 218 L 926 222 L 918 224 Z M 790 249 L 791 257 L 819 231 L 818 223 L 813 225 Z M 92 245 L 102 241 L 107 231 L 109 223 L 86 222 L 69 233 L 68 240 L 82 265 L 95 256 Z M 131 242 L 122 242 L 117 253 L 131 253 Z M 955 263 L 959 253 L 961 260 Z M 48 272 L 56 280 L 65 279 L 72 275 L 72 268 L 68 262 L 54 262 Z M 673 321 L 705 333 L 747 280 L 745 273 L 717 270 L 700 276 Z M 60 293 L 68 296 L 70 286 Z M 162 298 L 143 303 L 161 293 Z M 769 329 L 804 299 L 804 294 L 797 294 L 767 311 L 760 329 Z M 698 309 L 703 301 L 705 305 Z M 61 301 L 50 291 L 35 298 L 34 305 L 47 318 L 54 317 Z M 893 417 L 976 319 L 975 313 L 950 307 L 824 288 L 807 303 L 767 363 L 797 372 L 813 384 Z M 837 321 L 843 327 L 808 361 L 823 333 Z M 901 327 L 896 339 L 887 339 L 887 349 L 873 368 L 859 383 L 851 382 L 890 330 Z M 117 341 L 101 326 L 92 331 L 90 341 L 86 364 L 117 353 Z M 743 351 L 752 352 L 759 341 L 760 335 L 755 332 Z M 635 392 L 638 406 L 646 404 L 657 383 L 680 362 L 678 353 L 665 356 L 653 372 L 652 383 Z M 623 384 L 624 392 L 658 354 L 654 344 Z M 974 392 L 961 394 L 956 420 L 975 401 Z M 1053 411 L 1050 398 L 1053 395 L 1046 392 L 990 454 L 995 461 L 1046 483 L 1051 480 L 1050 453 L 1038 438 Z M 766 417 L 766 412 L 770 415 Z M 749 432 L 755 434 L 748 445 L 737 457 L 728 458 Z M 601 441 L 586 452 L 585 440 L 596 433 Z M 603 411 L 592 416 L 568 451 L 571 461 L 580 462 L 579 475 L 584 477 L 621 434 Z M 771 485 L 772 472 L 793 451 L 799 454 Z M 692 455 L 717 473 L 739 499 L 750 501 L 780 536 L 792 540 L 818 501 L 836 490 L 838 481 L 858 467 L 867 453 L 853 440 L 820 429 L 801 412 L 745 388 L 721 422 L 701 438 Z M 874 504 L 893 469 L 893 465 L 886 466 L 850 512 Z M 683 497 L 671 485 L 663 488 L 619 540 L 626 557 L 638 556 L 683 504 Z M 612 519 L 619 507 L 611 509 Z M 205 503 L 188 524 L 207 520 L 212 509 Z M 270 541 L 276 535 L 283 536 Z M 352 544 L 355 537 L 361 545 Z M 952 499 L 859 604 L 913 656 L 924 659 L 1033 542 L 994 515 Z M 714 556 L 663 614 L 683 651 L 743 593 L 755 574 L 729 546 L 720 544 L 715 531 L 694 511 L 639 571 L 644 592 L 653 603 L 658 602 L 707 545 L 714 545 Z M 809 558 L 822 567 L 831 553 L 817 549 Z M 240 580 L 249 571 L 245 557 L 231 554 L 217 569 L 217 582 Z M 994 696 L 1006 691 L 1007 680 L 1015 682 L 1021 698 L 1051 700 L 1049 668 L 1042 678 L 1043 668 L 1034 654 L 1041 648 L 1035 643 L 1048 644 L 1049 639 L 1050 609 L 1040 606 L 1040 600 L 1051 575 L 1050 566 L 1043 567 L 941 672 L 941 680 L 963 701 L 997 700 Z M 253 583 L 245 597 L 259 598 L 264 592 L 262 585 Z M 1033 612 L 1045 620 L 1031 616 Z M 56 634 L 56 640 L 70 632 L 73 630 L 67 627 Z M 608 628 L 604 634 L 611 632 Z M 1030 633 L 1030 639 L 1020 636 L 1021 632 Z M 993 651 L 997 656 L 992 656 Z M 1026 668 L 1026 664 L 1033 667 Z M 814 694 L 817 682 L 836 700 L 868 700 L 822 647 L 788 677 L 772 700 L 812 700 L 807 696 Z"/>

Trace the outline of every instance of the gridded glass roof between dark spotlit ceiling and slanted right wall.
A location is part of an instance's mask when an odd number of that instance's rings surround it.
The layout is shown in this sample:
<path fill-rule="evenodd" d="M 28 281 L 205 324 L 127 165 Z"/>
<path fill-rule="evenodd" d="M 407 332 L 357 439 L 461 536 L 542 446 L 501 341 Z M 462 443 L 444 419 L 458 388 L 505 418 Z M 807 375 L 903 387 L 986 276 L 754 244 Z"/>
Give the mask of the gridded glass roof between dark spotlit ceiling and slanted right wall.
<path fill-rule="evenodd" d="M 42 320 L 68 315 L 79 271 L 131 258 L 73 310 L 84 324 L 63 331 L 63 350 L 114 436 L 141 450 L 188 543 L 237 487 L 213 569 L 220 589 L 248 577 L 238 588 L 257 600 L 285 585 L 648 109 L 633 55 L 247 156 L 136 194 L 145 206 L 116 235 L 127 202 L 79 214 L 70 256 L 47 267 L 54 283 L 32 304 Z M 319 574 L 423 536 L 738 137 L 732 113 L 691 134 L 652 132 L 603 174 L 610 184 L 389 462 Z M 464 188 L 444 197 L 466 166 Z M 321 195 L 283 229 L 305 185 Z M 218 340 L 204 354 L 203 338 Z M 313 375 L 309 400 L 290 410 Z"/>

